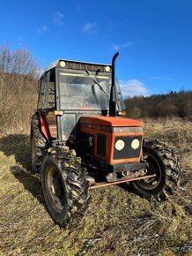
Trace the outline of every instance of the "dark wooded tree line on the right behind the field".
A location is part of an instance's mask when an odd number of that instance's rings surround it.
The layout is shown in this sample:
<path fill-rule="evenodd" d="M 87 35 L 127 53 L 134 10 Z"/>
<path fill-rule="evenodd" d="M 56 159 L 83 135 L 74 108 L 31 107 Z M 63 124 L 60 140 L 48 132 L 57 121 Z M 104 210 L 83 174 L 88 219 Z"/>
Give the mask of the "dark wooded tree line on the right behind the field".
<path fill-rule="evenodd" d="M 192 90 L 125 100 L 128 117 L 192 117 Z"/>

